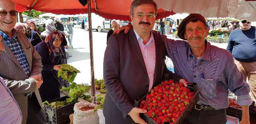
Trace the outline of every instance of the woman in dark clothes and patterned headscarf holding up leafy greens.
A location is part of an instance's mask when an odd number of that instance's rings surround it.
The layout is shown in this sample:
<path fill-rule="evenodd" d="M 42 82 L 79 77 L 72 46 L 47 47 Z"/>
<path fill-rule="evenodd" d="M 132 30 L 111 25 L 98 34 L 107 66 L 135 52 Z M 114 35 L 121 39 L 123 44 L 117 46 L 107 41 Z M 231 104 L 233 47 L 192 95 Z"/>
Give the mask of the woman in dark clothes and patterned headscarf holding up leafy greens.
<path fill-rule="evenodd" d="M 61 64 L 66 63 L 65 51 L 61 49 L 62 34 L 52 31 L 46 40 L 35 46 L 36 51 L 42 57 L 42 78 L 44 83 L 39 89 L 42 101 L 60 98 L 60 79 L 58 70 Z"/>

